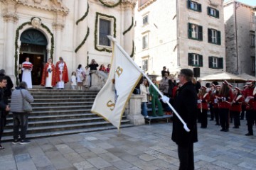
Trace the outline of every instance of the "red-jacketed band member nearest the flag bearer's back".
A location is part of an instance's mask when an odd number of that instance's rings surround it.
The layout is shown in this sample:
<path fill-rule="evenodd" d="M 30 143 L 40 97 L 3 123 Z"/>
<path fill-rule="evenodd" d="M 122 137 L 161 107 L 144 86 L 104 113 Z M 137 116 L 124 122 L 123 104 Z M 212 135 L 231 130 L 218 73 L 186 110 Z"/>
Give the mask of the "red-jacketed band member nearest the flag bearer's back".
<path fill-rule="evenodd" d="M 210 95 L 207 93 L 206 86 L 201 86 L 198 93 L 198 113 L 201 117 L 201 128 L 207 128 L 207 111 Z"/>

